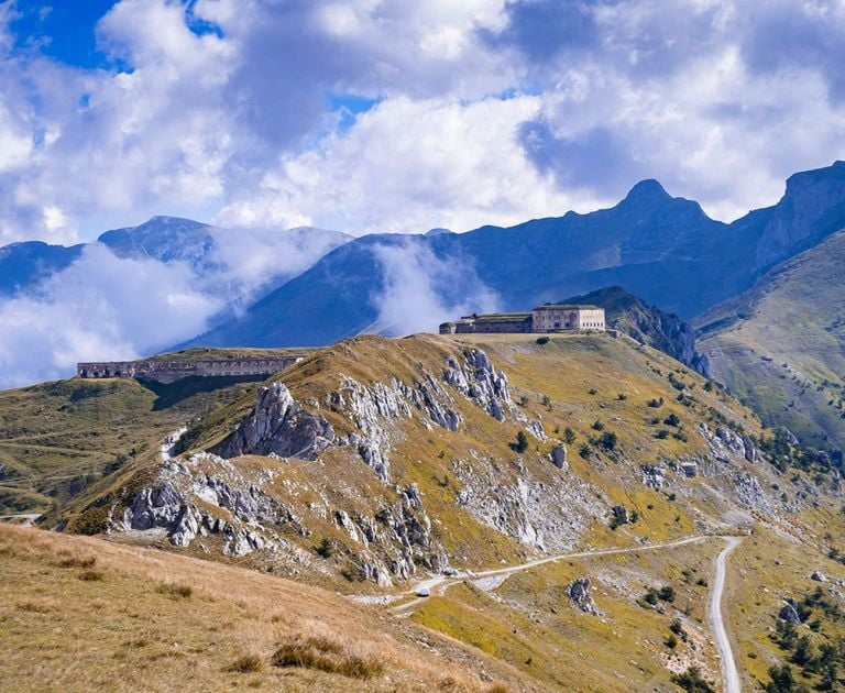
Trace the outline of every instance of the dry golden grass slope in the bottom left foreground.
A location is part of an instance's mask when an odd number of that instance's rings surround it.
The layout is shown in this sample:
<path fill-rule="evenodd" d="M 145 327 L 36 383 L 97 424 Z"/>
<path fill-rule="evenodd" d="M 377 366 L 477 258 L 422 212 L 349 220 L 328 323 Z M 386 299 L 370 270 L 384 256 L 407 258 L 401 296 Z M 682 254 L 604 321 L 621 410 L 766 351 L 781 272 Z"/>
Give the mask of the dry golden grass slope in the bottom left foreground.
<path fill-rule="evenodd" d="M 95 564 L 100 578 L 80 580 L 80 566 Z M 422 638 L 434 650 L 416 644 Z M 429 691 L 445 682 L 482 691 L 482 669 L 526 683 L 319 588 L 9 525 L 0 525 L 0 688 L 14 691 Z"/>

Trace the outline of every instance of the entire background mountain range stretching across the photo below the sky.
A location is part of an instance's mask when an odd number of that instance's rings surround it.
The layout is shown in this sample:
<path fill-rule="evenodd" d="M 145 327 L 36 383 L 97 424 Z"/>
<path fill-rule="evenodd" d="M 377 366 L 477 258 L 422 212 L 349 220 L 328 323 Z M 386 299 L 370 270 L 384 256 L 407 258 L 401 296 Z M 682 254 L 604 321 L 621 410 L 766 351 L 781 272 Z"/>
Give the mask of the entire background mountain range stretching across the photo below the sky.
<path fill-rule="evenodd" d="M 838 389 L 828 384 L 839 382 L 839 371 L 835 359 L 820 365 L 808 355 L 817 340 L 805 336 L 814 330 L 831 342 L 825 359 L 842 341 L 838 288 L 828 279 L 841 272 L 841 229 L 845 162 L 837 161 L 790 176 L 777 205 L 732 223 L 643 180 L 610 209 L 465 233 L 352 239 L 311 228 L 230 231 L 154 217 L 107 231 L 96 244 L 122 258 L 184 266 L 200 292 L 222 299 L 209 331 L 178 346 L 323 345 L 364 332 L 432 331 L 461 314 L 525 310 L 561 297 L 599 302 L 615 327 L 698 371 L 710 373 L 710 360 L 713 375 L 756 404 L 767 424 L 825 447 L 845 446 Z M 90 245 L 1 248 L 0 297 L 37 293 Z M 760 308 L 764 299 L 770 309 Z M 776 308 L 787 304 L 801 317 Z M 702 330 L 703 349 L 688 322 Z M 794 373 L 784 380 L 776 362 Z M 751 377 L 760 371 L 771 373 Z M 769 398 L 772 384 L 784 382 L 801 386 L 776 388 Z"/>

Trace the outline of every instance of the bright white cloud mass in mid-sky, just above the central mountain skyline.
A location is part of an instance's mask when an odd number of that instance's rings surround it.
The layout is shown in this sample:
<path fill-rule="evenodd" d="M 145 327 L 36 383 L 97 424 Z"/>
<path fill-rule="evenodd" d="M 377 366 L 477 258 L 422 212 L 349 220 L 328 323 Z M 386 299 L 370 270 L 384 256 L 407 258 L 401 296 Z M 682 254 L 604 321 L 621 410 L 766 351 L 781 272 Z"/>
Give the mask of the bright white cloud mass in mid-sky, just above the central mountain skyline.
<path fill-rule="evenodd" d="M 229 224 L 328 220 L 350 232 L 467 230 L 590 209 L 601 199 L 556 190 L 515 133 L 537 97 L 472 103 L 388 99 L 350 132 L 286 157 L 251 197 L 223 209 Z M 262 212 L 264 216 L 262 216 Z"/>

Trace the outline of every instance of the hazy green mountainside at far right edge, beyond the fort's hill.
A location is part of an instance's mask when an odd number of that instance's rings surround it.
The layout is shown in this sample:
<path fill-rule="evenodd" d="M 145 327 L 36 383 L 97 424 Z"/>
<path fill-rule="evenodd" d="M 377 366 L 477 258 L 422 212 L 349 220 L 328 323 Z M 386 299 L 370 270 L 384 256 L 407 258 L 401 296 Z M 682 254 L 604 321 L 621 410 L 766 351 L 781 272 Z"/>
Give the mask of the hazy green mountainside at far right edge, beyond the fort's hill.
<path fill-rule="evenodd" d="M 713 374 L 806 444 L 845 449 L 845 232 L 702 316 Z"/>

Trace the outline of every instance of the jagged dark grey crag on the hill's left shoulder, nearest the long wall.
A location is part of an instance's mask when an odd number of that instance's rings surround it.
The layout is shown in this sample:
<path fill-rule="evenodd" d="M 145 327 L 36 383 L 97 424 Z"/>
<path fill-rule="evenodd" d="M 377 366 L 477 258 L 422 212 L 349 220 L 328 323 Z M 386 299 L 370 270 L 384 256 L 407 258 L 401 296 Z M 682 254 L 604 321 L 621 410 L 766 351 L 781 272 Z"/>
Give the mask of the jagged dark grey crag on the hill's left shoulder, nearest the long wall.
<path fill-rule="evenodd" d="M 222 458 L 276 454 L 316 460 L 334 442 L 334 431 L 322 416 L 303 409 L 284 383 L 272 383 L 259 388 L 252 416 L 209 452 Z"/>

